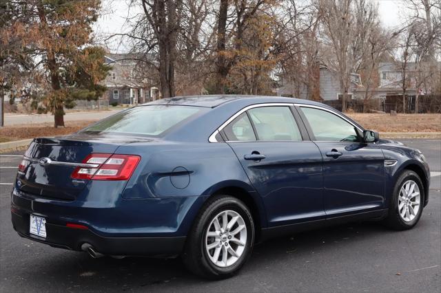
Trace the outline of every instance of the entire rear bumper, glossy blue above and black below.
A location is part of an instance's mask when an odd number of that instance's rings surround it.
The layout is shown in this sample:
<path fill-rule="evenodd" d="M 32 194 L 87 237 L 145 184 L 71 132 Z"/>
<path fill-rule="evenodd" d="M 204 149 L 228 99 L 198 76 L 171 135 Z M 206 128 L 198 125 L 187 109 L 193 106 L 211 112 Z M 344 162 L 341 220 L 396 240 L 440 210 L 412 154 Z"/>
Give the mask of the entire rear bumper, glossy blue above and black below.
<path fill-rule="evenodd" d="M 203 197 L 168 197 L 114 202 L 62 202 L 12 191 L 12 225 L 21 237 L 57 248 L 81 250 L 89 243 L 101 254 L 170 256 L 183 251 Z M 47 237 L 29 232 L 30 215 L 46 219 Z M 79 224 L 87 229 L 71 228 Z"/>

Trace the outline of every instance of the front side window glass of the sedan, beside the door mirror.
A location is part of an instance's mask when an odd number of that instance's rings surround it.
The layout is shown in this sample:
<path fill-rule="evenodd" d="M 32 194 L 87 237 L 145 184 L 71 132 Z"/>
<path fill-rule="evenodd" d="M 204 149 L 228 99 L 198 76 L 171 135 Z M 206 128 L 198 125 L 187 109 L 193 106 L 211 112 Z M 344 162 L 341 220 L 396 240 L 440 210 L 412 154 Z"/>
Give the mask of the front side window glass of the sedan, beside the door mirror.
<path fill-rule="evenodd" d="M 342 118 L 328 111 L 300 107 L 309 122 L 316 140 L 328 142 L 360 141 L 355 127 Z"/>

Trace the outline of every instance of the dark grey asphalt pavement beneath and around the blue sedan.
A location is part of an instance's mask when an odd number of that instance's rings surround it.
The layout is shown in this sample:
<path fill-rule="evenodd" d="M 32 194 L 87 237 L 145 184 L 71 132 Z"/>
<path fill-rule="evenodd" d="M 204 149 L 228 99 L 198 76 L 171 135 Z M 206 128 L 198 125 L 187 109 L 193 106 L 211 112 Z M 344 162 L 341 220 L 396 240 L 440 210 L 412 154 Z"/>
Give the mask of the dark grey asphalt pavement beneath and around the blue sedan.
<path fill-rule="evenodd" d="M 4 153 L 0 291 L 439 292 L 441 140 L 400 141 L 420 149 L 431 166 L 429 205 L 415 228 L 397 232 L 366 222 L 272 239 L 254 248 L 240 274 L 223 281 L 198 279 L 179 259 L 92 259 L 19 237 L 10 221 L 10 191 L 21 153 Z"/>

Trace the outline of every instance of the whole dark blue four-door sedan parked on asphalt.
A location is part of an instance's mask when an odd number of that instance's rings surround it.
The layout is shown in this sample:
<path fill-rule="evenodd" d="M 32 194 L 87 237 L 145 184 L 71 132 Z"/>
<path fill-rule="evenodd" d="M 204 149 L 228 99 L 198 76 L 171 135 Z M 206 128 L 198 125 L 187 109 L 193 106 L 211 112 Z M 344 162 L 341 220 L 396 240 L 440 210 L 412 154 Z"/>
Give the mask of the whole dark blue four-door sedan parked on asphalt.
<path fill-rule="evenodd" d="M 318 102 L 189 96 L 35 138 L 12 191 L 21 237 L 92 257 L 177 256 L 232 276 L 258 241 L 347 221 L 415 226 L 424 155 Z"/>

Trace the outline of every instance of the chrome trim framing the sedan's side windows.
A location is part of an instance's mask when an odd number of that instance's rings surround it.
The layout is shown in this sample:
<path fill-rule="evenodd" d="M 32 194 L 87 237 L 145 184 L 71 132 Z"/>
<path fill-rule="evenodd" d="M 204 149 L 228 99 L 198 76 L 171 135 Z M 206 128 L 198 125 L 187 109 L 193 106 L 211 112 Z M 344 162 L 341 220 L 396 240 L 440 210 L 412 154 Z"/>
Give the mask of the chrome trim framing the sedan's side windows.
<path fill-rule="evenodd" d="M 223 124 L 220 125 L 220 127 L 218 127 L 218 129 L 216 129 L 216 131 L 214 131 L 212 133 L 212 135 L 209 135 L 208 141 L 209 142 L 218 142 L 216 140 L 216 135 L 218 133 L 220 133 L 220 131 L 222 131 L 230 122 L 232 122 L 234 119 L 236 119 L 238 116 L 240 116 L 240 114 L 244 113 L 245 111 L 248 111 L 249 109 L 254 109 L 254 108 L 260 108 L 260 107 L 271 107 L 271 106 L 284 106 L 284 107 L 308 107 L 308 108 L 315 108 L 315 109 L 319 109 L 319 110 L 323 110 L 323 111 L 327 111 L 329 113 L 332 113 L 336 116 L 338 116 L 339 118 L 342 118 L 342 120 L 345 120 L 346 122 L 348 122 L 349 124 L 351 124 L 353 127 L 356 127 L 358 130 L 360 130 L 361 132 L 363 131 L 363 129 L 361 129 L 360 127 L 358 127 L 356 124 L 353 124 L 353 122 L 351 122 L 351 120 L 348 120 L 345 116 L 342 116 L 341 114 L 337 113 L 336 111 L 333 111 L 331 109 L 327 109 L 325 107 L 321 107 L 321 106 L 317 106 L 317 105 L 308 105 L 308 104 L 300 104 L 300 103 L 291 103 L 291 102 L 267 102 L 267 103 L 262 103 L 262 104 L 254 104 L 254 105 L 249 105 L 243 109 L 240 109 L 237 113 L 235 113 L 233 116 L 231 116 L 227 121 L 223 122 Z M 269 142 L 302 142 L 305 140 L 268 140 Z M 322 142 L 320 140 L 312 140 L 314 142 Z M 265 142 L 264 140 L 248 140 L 248 141 L 243 141 L 243 140 L 225 140 L 225 142 Z M 323 142 L 329 142 L 328 140 L 325 140 Z M 358 143 L 358 142 L 342 142 L 342 143 Z"/>

